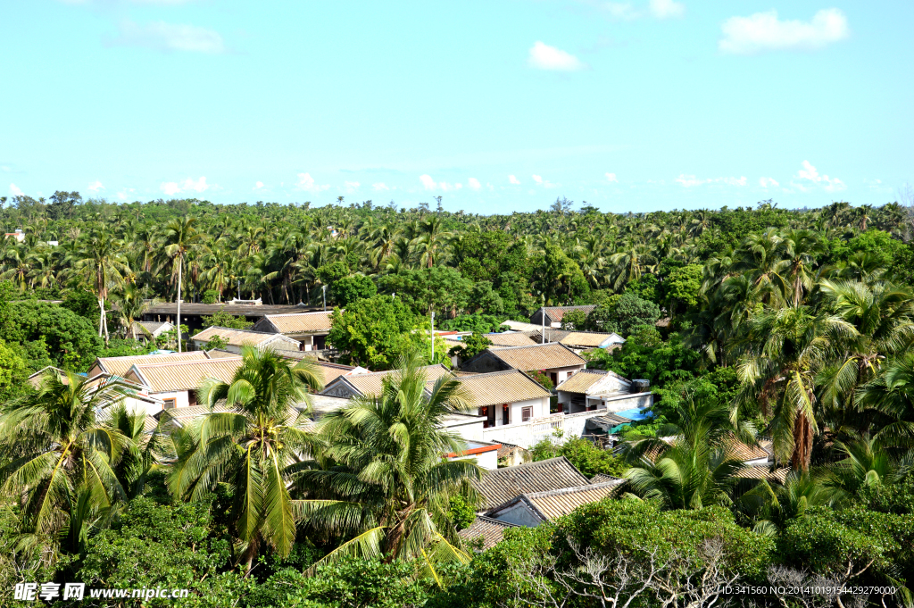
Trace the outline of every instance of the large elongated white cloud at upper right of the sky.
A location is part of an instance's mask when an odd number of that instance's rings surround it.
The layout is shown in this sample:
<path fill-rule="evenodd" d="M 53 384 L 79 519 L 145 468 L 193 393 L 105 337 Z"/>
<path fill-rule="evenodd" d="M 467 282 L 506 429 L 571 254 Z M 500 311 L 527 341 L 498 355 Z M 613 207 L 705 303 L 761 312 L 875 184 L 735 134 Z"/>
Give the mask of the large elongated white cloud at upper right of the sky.
<path fill-rule="evenodd" d="M 837 8 L 824 8 L 812 21 L 780 21 L 778 12 L 731 16 L 721 26 L 717 48 L 749 55 L 765 50 L 815 50 L 850 36 L 847 17 Z"/>

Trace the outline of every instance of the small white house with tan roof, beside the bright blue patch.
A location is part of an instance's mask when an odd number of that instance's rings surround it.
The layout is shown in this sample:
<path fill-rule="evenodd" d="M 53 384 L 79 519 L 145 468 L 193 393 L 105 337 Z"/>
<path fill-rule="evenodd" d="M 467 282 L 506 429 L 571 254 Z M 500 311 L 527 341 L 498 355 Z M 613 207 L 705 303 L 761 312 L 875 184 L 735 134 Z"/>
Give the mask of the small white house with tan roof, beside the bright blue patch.
<path fill-rule="evenodd" d="M 556 387 L 558 404 L 567 414 L 579 411 L 626 411 L 654 405 L 647 380 L 629 380 L 612 371 L 581 369 Z"/>

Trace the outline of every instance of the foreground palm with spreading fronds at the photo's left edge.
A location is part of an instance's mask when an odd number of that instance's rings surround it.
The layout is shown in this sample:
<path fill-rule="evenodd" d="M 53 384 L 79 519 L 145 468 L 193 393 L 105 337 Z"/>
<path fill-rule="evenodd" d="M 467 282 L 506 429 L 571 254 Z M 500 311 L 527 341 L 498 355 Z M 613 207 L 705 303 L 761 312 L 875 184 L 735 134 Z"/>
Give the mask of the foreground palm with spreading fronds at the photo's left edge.
<path fill-rule="evenodd" d="M 125 497 L 112 467 L 131 442 L 96 419 L 97 410 L 122 396 L 118 383 L 54 372 L 36 393 L 8 402 L 0 411 L 3 494 L 23 501 L 32 532 L 63 528 L 83 492 L 99 508 Z"/>

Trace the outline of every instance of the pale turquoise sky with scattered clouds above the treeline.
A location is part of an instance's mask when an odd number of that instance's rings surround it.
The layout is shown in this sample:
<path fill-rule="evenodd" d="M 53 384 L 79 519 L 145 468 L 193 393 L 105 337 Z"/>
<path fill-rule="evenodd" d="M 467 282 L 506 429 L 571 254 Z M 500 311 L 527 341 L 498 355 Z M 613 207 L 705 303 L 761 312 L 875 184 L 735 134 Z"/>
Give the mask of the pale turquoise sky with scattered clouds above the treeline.
<path fill-rule="evenodd" d="M 914 3 L 0 0 L 0 196 L 881 205 Z"/>

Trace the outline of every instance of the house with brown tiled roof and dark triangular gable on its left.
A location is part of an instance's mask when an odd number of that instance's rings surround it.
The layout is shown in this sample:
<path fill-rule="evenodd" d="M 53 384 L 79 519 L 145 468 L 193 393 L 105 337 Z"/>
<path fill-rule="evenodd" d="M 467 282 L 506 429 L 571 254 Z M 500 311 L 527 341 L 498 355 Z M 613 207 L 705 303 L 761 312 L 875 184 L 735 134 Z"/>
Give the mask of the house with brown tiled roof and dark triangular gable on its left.
<path fill-rule="evenodd" d="M 583 369 L 587 361 L 561 344 L 538 344 L 531 347 L 488 348 L 461 366 L 462 371 L 485 373 L 519 369 L 541 371 L 554 385 L 564 382 L 571 374 Z"/>

